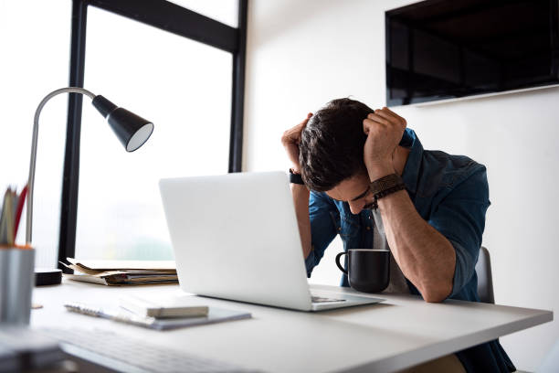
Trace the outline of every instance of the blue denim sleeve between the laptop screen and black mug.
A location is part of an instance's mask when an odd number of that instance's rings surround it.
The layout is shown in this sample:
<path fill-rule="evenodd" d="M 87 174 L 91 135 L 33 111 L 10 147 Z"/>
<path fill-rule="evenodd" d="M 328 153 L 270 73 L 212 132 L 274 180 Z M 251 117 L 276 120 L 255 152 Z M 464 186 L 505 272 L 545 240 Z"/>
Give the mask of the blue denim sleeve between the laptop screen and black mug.
<path fill-rule="evenodd" d="M 333 224 L 332 214 L 339 214 L 332 199 L 324 193 L 311 192 L 309 217 L 311 218 L 312 250 L 305 259 L 307 277 L 311 277 L 312 269 L 321 261 L 324 250 L 336 237 L 337 231 Z"/>

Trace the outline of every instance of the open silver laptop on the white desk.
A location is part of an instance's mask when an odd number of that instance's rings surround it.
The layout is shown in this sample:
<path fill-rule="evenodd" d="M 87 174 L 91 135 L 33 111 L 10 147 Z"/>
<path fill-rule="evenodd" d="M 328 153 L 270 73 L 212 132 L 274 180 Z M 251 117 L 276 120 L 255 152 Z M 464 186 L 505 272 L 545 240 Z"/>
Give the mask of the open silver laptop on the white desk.
<path fill-rule="evenodd" d="M 384 301 L 311 293 L 286 173 L 165 178 L 159 187 L 185 292 L 301 311 Z"/>

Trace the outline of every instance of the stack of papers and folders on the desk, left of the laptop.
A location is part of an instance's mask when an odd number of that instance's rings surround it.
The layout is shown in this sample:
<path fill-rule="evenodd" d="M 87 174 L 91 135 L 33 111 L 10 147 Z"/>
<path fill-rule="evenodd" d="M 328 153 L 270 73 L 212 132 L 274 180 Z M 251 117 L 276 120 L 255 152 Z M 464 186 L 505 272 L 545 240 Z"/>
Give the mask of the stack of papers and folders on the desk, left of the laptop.
<path fill-rule="evenodd" d="M 66 258 L 62 263 L 75 274 L 65 277 L 102 285 L 142 285 L 178 283 L 174 261 L 88 261 Z"/>

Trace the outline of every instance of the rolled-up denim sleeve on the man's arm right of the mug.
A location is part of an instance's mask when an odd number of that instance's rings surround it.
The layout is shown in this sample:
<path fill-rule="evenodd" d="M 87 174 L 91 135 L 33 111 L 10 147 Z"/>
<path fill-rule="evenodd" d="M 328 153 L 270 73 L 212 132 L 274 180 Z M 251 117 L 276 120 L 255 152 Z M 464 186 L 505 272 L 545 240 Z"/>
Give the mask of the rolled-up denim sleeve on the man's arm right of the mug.
<path fill-rule="evenodd" d="M 460 182 L 449 186 L 436 205 L 428 223 L 445 236 L 456 252 L 452 292 L 459 293 L 475 272 L 485 229 L 485 213 L 490 206 L 487 173 L 483 165 Z"/>

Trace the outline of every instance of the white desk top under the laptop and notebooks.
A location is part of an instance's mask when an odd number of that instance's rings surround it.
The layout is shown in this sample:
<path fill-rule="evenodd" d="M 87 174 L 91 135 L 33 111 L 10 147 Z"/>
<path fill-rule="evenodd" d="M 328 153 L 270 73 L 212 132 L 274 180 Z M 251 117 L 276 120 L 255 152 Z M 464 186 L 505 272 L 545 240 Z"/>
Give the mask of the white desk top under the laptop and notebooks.
<path fill-rule="evenodd" d="M 265 371 L 385 372 L 553 320 L 551 311 L 460 301 L 427 304 L 412 295 L 382 294 L 379 296 L 386 299 L 382 304 L 316 314 L 192 296 L 189 299 L 193 304 L 244 310 L 253 318 L 159 332 L 72 314 L 62 306 L 65 302 L 116 305 L 119 297 L 132 293 L 182 294 L 174 285 L 104 287 L 65 280 L 62 285 L 35 289 L 34 302 L 44 308 L 32 311 L 31 326 L 107 329 Z"/>

